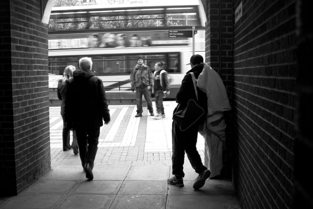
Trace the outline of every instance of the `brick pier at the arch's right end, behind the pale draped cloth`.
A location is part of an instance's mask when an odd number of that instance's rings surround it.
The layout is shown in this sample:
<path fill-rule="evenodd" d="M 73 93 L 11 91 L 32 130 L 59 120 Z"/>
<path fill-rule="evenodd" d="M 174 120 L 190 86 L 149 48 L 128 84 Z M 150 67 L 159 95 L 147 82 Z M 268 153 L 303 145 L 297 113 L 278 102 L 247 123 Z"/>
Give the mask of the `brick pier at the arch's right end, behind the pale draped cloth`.
<path fill-rule="evenodd" d="M 223 80 L 232 105 L 232 69 L 233 69 L 233 3 L 232 0 L 202 0 L 207 16 L 205 32 L 205 62 L 207 62 Z M 223 177 L 231 177 L 231 112 L 225 113 L 226 147 L 223 151 Z M 208 164 L 205 152 L 205 165 Z"/>

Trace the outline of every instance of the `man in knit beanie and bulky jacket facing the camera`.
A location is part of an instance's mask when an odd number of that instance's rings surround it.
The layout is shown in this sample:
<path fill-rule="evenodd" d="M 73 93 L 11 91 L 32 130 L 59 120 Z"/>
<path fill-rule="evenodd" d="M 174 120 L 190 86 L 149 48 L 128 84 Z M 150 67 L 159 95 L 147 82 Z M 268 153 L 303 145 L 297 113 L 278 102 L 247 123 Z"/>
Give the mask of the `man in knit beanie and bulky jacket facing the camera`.
<path fill-rule="evenodd" d="M 150 67 L 143 64 L 143 57 L 137 57 L 137 65 L 131 71 L 130 81 L 131 90 L 134 92 L 136 88 L 137 114 L 135 117 L 142 116 L 142 95 L 147 101 L 147 108 L 151 116 L 154 116 L 152 107 L 152 98 L 150 89 L 152 87 L 153 75 Z"/>

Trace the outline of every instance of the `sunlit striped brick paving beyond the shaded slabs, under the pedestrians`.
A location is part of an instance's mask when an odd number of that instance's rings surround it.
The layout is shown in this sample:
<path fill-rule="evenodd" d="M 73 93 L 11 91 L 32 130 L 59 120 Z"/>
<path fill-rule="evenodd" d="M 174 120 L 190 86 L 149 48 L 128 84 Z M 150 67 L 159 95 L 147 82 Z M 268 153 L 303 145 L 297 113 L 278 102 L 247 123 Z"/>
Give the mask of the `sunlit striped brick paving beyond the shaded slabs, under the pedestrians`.
<path fill-rule="evenodd" d="M 175 101 L 164 101 L 163 105 L 166 117 L 159 120 L 153 119 L 146 107 L 143 107 L 142 117 L 136 118 L 136 105 L 110 105 L 111 122 L 100 128 L 95 165 L 171 165 L 172 112 L 177 104 Z M 155 108 L 154 102 L 153 107 Z M 60 107 L 50 107 L 51 165 L 80 165 L 79 155 L 74 155 L 72 150 L 62 150 L 62 128 Z M 197 148 L 204 159 L 204 140 L 201 135 L 198 137 Z"/>

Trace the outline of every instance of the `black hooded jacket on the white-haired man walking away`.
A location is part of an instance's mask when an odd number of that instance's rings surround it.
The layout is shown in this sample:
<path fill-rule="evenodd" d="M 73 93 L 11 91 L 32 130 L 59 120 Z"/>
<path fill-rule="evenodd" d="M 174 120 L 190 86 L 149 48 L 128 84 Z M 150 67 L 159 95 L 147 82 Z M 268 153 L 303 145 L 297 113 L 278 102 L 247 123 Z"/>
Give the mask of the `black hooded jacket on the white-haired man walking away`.
<path fill-rule="evenodd" d="M 77 69 L 65 97 L 65 121 L 74 128 L 97 128 L 110 121 L 102 80 L 91 70 Z"/>

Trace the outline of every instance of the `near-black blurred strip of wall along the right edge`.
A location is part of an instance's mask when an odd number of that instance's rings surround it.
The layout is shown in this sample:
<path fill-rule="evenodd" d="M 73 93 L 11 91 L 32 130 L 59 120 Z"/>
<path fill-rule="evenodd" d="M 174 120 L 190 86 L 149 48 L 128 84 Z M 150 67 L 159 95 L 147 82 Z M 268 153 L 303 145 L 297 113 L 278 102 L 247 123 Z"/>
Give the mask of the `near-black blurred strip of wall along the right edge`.
<path fill-rule="evenodd" d="M 297 137 L 295 142 L 295 195 L 293 209 L 313 208 L 313 27 L 312 2 L 297 1 L 298 46 L 297 46 Z"/>

